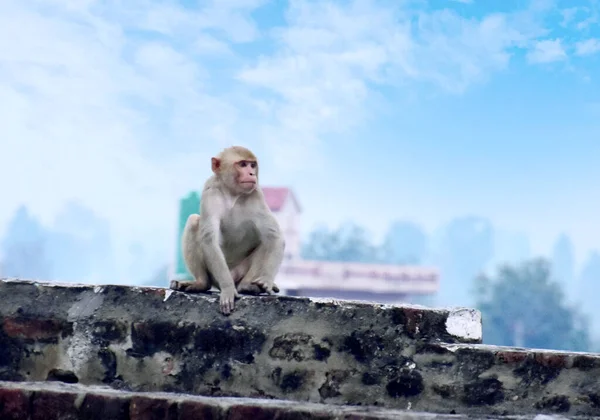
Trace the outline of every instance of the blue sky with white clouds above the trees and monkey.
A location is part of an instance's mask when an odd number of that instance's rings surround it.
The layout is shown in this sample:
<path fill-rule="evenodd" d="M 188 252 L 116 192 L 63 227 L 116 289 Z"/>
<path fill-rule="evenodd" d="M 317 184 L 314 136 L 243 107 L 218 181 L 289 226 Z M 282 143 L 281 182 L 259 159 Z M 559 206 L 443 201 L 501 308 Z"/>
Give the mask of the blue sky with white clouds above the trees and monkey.
<path fill-rule="evenodd" d="M 305 232 L 476 214 L 600 248 L 600 3 L 7 0 L 0 234 L 68 200 L 168 259 L 177 200 L 231 144 Z"/>

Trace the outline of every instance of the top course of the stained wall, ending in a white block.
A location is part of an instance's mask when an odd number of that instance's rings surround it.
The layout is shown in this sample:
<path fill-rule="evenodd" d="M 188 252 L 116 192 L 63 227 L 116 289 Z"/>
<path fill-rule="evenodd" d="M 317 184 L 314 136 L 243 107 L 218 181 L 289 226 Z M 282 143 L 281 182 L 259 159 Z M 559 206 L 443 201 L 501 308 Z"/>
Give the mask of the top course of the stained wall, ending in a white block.
<path fill-rule="evenodd" d="M 290 296 L 243 296 L 228 317 L 218 294 L 157 287 L 84 285 L 0 279 L 0 316 L 27 313 L 73 322 L 89 317 L 209 325 L 243 322 L 261 330 L 322 335 L 355 331 L 388 338 L 480 343 L 481 314 L 469 308 L 430 309 Z"/>

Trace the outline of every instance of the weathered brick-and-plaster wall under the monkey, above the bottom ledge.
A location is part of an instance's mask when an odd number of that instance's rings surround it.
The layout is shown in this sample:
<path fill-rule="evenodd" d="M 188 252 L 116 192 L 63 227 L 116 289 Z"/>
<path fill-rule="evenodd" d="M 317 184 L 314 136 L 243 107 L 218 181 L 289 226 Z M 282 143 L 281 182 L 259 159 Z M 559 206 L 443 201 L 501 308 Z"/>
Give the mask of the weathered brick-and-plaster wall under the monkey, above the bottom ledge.
<path fill-rule="evenodd" d="M 0 281 L 0 380 L 438 413 L 600 415 L 600 356 L 489 347 L 479 313 Z"/>

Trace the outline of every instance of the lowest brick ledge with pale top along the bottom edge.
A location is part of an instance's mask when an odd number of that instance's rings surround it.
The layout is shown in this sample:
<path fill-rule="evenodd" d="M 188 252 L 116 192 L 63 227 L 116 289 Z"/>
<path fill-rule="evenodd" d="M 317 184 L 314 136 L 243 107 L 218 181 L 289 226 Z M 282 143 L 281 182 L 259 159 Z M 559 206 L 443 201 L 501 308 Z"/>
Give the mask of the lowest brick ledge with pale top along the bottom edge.
<path fill-rule="evenodd" d="M 52 382 L 0 382 L 2 420 L 561 420 L 591 417 L 428 414 L 377 407 L 134 393 Z"/>

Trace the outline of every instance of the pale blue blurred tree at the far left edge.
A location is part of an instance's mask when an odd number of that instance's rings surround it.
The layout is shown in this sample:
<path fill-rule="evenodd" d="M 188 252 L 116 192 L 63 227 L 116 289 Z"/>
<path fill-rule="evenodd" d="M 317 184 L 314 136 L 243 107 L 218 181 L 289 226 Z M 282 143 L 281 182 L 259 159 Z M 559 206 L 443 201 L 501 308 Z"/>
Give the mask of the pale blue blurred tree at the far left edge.
<path fill-rule="evenodd" d="M 8 223 L 2 240 L 2 275 L 50 280 L 52 267 L 47 254 L 48 233 L 27 207 L 21 206 Z"/>

